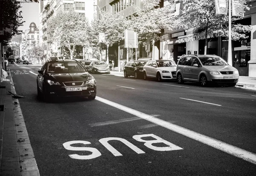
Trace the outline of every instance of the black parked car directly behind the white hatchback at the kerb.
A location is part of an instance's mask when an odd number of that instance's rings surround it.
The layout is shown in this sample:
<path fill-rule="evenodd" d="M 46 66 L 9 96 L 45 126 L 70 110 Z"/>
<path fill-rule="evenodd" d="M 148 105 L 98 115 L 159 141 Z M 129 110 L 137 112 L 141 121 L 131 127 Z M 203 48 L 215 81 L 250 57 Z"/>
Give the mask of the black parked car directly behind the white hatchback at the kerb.
<path fill-rule="evenodd" d="M 143 66 L 147 61 L 129 61 L 124 68 L 124 76 L 134 76 L 136 79 L 143 77 Z"/>

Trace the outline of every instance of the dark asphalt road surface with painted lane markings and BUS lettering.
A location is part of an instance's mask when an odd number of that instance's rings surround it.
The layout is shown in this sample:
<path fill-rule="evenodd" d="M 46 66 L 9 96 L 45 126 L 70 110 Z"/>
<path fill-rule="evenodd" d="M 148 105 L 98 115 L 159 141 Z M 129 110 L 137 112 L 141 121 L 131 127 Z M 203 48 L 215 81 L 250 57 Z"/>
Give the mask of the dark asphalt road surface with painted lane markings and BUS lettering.
<path fill-rule="evenodd" d="M 256 92 L 93 75 L 96 100 L 46 103 L 40 66 L 9 69 L 41 176 L 256 175 Z"/>

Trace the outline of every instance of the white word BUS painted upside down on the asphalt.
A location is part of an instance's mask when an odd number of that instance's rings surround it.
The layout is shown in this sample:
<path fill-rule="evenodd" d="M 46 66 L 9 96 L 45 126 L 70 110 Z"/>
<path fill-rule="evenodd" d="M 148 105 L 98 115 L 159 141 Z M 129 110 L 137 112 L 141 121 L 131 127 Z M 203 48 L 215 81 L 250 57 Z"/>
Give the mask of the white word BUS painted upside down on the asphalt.
<path fill-rule="evenodd" d="M 154 138 L 153 140 L 144 140 L 142 138 L 145 137 L 152 137 Z M 152 150 L 156 150 L 156 151 L 170 151 L 170 150 L 182 150 L 183 148 L 178 147 L 175 144 L 172 144 L 169 141 L 164 140 L 163 138 L 160 138 L 154 134 L 143 134 L 143 135 L 134 135 L 132 136 L 132 138 L 134 138 L 136 141 L 139 142 L 144 142 L 144 145 Z M 110 137 L 110 138 L 101 138 L 99 139 L 99 142 L 106 147 L 114 156 L 122 156 L 121 153 L 119 153 L 119 151 L 117 151 L 114 147 L 111 146 L 111 144 L 108 143 L 108 141 L 121 141 L 123 144 L 127 145 L 128 147 L 130 147 L 132 150 L 134 150 L 134 152 L 138 153 L 138 154 L 142 154 L 145 153 L 143 150 L 139 149 L 138 147 L 136 147 L 134 144 L 132 144 L 131 142 L 127 141 L 124 138 L 115 138 L 115 137 Z M 156 147 L 152 144 L 157 144 L 157 143 L 163 143 L 166 144 L 166 147 Z M 70 156 L 70 158 L 73 159 L 94 159 L 97 158 L 99 156 L 101 156 L 102 154 L 99 152 L 99 150 L 97 150 L 96 148 L 93 147 L 73 147 L 71 145 L 73 144 L 91 144 L 88 141 L 68 141 L 65 142 L 63 144 L 64 148 L 67 150 L 72 150 L 72 151 L 89 151 L 92 154 L 90 155 L 78 155 L 78 154 L 71 154 L 68 155 Z"/>

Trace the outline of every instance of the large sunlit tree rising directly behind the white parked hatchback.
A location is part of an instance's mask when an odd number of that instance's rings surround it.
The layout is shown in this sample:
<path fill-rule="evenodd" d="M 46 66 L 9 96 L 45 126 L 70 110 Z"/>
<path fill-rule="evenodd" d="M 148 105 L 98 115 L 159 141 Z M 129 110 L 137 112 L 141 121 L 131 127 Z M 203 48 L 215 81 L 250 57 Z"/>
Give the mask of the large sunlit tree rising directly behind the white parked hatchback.
<path fill-rule="evenodd" d="M 160 40 L 162 29 L 177 29 L 180 26 L 179 20 L 174 20 L 172 5 L 159 8 L 160 0 L 144 0 L 142 7 L 135 7 L 136 13 L 128 17 L 129 29 L 138 34 L 141 43 L 154 43 Z M 154 53 L 153 53 L 154 55 Z"/>

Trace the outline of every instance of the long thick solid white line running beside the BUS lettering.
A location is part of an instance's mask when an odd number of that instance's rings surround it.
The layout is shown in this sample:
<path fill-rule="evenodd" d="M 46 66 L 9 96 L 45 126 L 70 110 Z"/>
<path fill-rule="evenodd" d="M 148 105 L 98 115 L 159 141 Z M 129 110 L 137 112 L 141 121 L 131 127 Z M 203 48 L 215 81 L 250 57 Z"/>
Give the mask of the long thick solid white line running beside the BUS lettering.
<path fill-rule="evenodd" d="M 160 118 L 156 118 L 152 115 L 148 115 L 148 114 L 142 113 L 140 111 L 131 109 L 129 107 L 125 107 L 121 104 L 114 103 L 114 102 L 106 100 L 104 98 L 100 98 L 100 97 L 96 96 L 95 99 L 98 100 L 98 101 L 101 101 L 102 103 L 108 104 L 112 107 L 115 107 L 119 110 L 125 111 L 126 113 L 130 113 L 132 115 L 135 115 L 137 117 L 140 117 L 140 118 L 143 118 L 147 121 L 150 121 L 154 124 L 157 124 L 161 127 L 172 130 L 172 131 L 174 131 L 176 133 L 179 133 L 183 136 L 186 136 L 188 138 L 192 138 L 192 139 L 194 139 L 196 141 L 199 141 L 203 144 L 207 144 L 207 145 L 209 145 L 211 147 L 214 147 L 218 150 L 229 153 L 230 155 L 241 158 L 241 159 L 243 159 L 247 162 L 256 164 L 256 154 L 255 153 L 252 153 L 252 152 L 249 152 L 247 150 L 241 149 L 239 147 L 227 144 L 227 143 L 219 141 L 217 139 L 202 135 L 200 133 L 196 133 L 192 130 L 188 130 L 184 127 L 180 127 L 180 126 L 172 124 L 168 121 L 164 121 L 164 120 L 162 120 Z"/>

